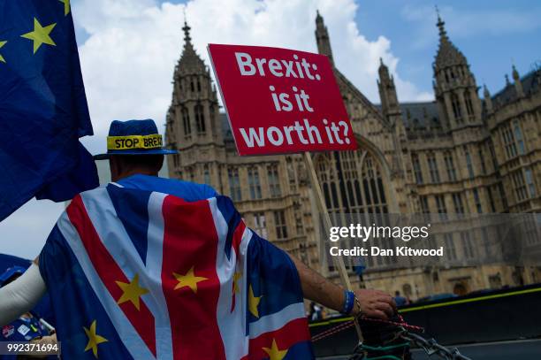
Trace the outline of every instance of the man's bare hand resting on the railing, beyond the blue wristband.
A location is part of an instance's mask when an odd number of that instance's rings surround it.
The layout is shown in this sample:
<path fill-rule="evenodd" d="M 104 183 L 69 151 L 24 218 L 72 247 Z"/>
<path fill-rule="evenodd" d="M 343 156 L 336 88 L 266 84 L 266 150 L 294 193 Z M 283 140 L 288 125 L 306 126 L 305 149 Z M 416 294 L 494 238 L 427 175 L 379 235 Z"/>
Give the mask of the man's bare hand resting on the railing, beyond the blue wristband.
<path fill-rule="evenodd" d="M 359 299 L 361 309 L 358 304 L 354 306 L 354 315 L 364 315 L 369 318 L 382 318 L 384 320 L 392 318 L 396 312 L 396 303 L 391 295 L 383 291 L 373 289 L 359 289 L 354 291 Z"/>

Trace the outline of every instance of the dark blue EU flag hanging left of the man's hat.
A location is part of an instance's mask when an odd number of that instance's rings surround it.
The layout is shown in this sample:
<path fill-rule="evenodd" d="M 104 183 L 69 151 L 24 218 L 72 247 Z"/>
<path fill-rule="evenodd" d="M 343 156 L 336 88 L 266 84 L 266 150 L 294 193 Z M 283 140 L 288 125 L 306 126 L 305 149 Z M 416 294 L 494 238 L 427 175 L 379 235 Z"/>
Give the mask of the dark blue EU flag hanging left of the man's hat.
<path fill-rule="evenodd" d="M 0 0 L 0 220 L 98 185 L 69 0 Z"/>

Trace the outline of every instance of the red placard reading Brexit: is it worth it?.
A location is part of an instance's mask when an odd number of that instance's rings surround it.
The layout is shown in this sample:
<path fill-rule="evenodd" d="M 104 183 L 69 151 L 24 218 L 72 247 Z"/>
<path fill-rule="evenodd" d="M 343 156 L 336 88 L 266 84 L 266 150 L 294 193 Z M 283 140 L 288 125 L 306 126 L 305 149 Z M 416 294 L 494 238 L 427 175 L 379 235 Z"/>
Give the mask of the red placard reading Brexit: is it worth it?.
<path fill-rule="evenodd" d="M 357 149 L 324 55 L 209 45 L 239 155 Z"/>

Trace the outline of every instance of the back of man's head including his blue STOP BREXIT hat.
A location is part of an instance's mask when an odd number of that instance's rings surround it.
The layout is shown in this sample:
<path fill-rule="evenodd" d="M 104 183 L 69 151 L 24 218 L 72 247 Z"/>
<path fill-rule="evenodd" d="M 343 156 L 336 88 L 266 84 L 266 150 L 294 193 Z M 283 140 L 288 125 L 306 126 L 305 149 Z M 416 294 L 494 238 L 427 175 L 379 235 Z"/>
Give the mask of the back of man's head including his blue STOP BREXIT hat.
<path fill-rule="evenodd" d="M 156 176 L 164 165 L 164 155 L 176 153 L 163 148 L 154 120 L 116 120 L 110 124 L 107 153 L 95 159 L 109 159 L 111 180 L 117 181 L 136 173 Z"/>

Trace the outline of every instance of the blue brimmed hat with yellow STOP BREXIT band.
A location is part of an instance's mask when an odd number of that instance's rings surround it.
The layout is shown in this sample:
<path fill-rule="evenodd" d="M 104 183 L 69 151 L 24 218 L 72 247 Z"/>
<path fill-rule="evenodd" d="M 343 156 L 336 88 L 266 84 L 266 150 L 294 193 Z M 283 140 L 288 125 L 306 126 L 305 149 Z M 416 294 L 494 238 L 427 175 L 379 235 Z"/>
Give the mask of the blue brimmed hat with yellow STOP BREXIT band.
<path fill-rule="evenodd" d="M 96 160 L 112 155 L 176 154 L 173 149 L 164 149 L 162 135 L 158 134 L 152 119 L 115 120 L 110 124 L 107 136 L 107 153 L 96 155 Z"/>

